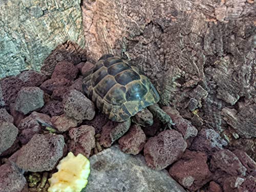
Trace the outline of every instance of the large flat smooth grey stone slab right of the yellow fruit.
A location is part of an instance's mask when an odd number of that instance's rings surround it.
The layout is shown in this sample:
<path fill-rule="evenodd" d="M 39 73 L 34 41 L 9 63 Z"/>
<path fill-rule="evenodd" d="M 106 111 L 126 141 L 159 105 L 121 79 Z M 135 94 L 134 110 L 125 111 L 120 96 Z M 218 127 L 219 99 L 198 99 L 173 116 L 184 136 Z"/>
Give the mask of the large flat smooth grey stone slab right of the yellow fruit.
<path fill-rule="evenodd" d="M 118 146 L 90 157 L 90 164 L 89 181 L 82 191 L 98 192 L 104 188 L 105 192 L 185 192 L 166 170 L 157 172 L 146 166 L 143 156 L 125 154 Z"/>

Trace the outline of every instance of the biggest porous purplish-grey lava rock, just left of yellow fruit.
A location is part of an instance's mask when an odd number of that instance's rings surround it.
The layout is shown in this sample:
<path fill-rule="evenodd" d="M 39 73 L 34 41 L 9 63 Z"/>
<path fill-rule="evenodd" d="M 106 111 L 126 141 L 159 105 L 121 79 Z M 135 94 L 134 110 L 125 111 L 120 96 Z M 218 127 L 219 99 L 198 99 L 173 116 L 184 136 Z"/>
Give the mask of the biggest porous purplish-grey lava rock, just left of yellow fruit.
<path fill-rule="evenodd" d="M 62 135 L 34 135 L 20 149 L 16 164 L 30 172 L 52 170 L 63 155 L 64 145 Z"/>

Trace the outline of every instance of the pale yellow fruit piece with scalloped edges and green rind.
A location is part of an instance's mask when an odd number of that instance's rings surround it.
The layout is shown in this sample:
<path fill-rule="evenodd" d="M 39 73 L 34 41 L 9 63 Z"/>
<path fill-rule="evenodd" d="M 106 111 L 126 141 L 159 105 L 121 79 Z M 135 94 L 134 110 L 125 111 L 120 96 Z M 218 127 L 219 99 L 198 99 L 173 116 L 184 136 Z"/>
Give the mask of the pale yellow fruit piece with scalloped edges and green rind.
<path fill-rule="evenodd" d="M 90 175 L 90 161 L 81 154 L 74 156 L 72 152 L 63 158 L 58 172 L 48 180 L 48 192 L 80 192 L 86 187 Z"/>

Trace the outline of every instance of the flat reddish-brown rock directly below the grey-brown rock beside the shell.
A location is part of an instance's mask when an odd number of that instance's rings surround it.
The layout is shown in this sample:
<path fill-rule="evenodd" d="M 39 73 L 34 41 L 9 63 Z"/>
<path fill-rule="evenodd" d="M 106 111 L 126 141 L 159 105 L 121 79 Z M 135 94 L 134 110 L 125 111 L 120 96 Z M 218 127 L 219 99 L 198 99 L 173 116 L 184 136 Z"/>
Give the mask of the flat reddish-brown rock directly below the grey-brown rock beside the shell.
<path fill-rule="evenodd" d="M 51 118 L 51 122 L 53 126 L 60 132 L 66 132 L 72 127 L 76 127 L 80 124 L 81 120 L 76 120 L 73 118 L 69 118 L 66 115 L 62 114 L 60 116 L 53 116 Z"/>

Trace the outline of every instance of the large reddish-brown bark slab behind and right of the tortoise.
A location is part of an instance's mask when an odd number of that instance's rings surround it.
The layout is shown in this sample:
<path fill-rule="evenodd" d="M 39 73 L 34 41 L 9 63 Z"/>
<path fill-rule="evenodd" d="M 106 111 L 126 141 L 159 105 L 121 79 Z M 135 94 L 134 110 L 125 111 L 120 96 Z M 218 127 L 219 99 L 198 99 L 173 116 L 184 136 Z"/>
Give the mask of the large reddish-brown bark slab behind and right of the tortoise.
<path fill-rule="evenodd" d="M 230 140 L 230 128 L 253 143 L 255 10 L 251 0 L 84 0 L 87 59 L 122 55 L 199 130 Z"/>

